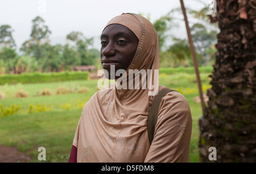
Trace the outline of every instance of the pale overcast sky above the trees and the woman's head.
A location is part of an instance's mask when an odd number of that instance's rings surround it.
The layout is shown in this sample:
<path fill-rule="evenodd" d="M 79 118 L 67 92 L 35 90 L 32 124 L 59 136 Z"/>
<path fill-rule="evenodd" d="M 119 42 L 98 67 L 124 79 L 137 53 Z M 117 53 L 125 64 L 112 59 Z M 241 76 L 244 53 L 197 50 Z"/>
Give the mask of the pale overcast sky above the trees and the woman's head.
<path fill-rule="evenodd" d="M 202 7 L 195 0 L 184 0 L 184 4 L 193 9 Z M 177 7 L 180 7 L 179 0 L 1 0 L 0 26 L 9 24 L 13 28 L 19 49 L 30 38 L 32 19 L 39 15 L 52 32 L 52 44 L 65 44 L 67 34 L 80 31 L 86 38 L 94 37 L 94 47 L 100 48 L 101 31 L 114 16 L 122 13 L 150 15 L 153 23 Z M 175 32 L 187 36 L 184 24 Z"/>

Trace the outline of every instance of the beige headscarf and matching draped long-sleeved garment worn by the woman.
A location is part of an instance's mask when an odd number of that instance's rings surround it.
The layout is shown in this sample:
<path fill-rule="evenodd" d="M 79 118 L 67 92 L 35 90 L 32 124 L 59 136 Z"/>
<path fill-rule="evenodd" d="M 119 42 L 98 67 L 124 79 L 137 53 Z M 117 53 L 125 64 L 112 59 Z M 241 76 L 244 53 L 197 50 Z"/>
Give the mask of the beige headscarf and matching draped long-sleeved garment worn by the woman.
<path fill-rule="evenodd" d="M 149 20 L 129 13 L 113 18 L 107 26 L 110 24 L 126 26 L 139 39 L 137 52 L 127 73 L 129 69 L 138 69 L 138 71 L 159 69 L 158 34 Z M 154 79 L 155 75 L 152 71 L 151 79 Z M 159 87 L 159 90 L 164 88 L 164 86 L 158 86 L 158 81 L 154 84 L 154 87 L 157 89 Z M 163 100 L 160 105 L 162 110 L 159 110 L 159 121 L 156 124 L 155 135 L 158 138 L 153 140 L 150 147 L 147 117 L 154 95 L 151 95 L 148 89 L 118 89 L 114 88 L 118 87 L 116 85 L 118 85 L 117 82 L 108 88 L 101 89 L 85 104 L 73 141 L 73 146 L 77 148 L 77 162 L 189 161 L 191 113 L 185 98 L 179 93 L 167 94 L 166 100 Z M 141 84 L 140 87 L 142 87 Z M 168 114 L 171 112 L 170 103 L 168 103 L 170 100 L 172 109 L 176 102 L 178 107 L 175 108 L 176 111 L 180 111 L 181 115 L 185 114 L 184 119 L 173 111 L 179 116 L 177 120 L 181 120 L 173 122 L 172 125 L 169 121 L 173 118 L 168 119 L 169 116 L 173 116 L 171 113 Z M 177 132 L 168 130 L 172 127 L 175 127 Z M 184 135 L 185 129 L 188 135 Z M 167 138 L 167 134 L 174 132 L 175 136 L 181 139 L 180 134 L 182 134 L 186 140 L 182 142 L 173 137 L 174 142 L 169 142 L 169 139 L 164 139 Z M 162 136 L 164 143 L 160 141 Z M 179 144 L 179 142 L 182 143 Z"/>

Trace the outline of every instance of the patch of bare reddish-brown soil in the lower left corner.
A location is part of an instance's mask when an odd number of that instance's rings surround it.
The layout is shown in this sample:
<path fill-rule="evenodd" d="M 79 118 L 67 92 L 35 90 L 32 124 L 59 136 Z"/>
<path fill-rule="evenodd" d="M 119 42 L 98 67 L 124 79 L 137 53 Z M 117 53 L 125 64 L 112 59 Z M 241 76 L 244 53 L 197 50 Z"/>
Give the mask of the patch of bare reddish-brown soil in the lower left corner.
<path fill-rule="evenodd" d="M 24 163 L 30 160 L 31 156 L 21 153 L 18 148 L 0 145 L 0 163 Z"/>

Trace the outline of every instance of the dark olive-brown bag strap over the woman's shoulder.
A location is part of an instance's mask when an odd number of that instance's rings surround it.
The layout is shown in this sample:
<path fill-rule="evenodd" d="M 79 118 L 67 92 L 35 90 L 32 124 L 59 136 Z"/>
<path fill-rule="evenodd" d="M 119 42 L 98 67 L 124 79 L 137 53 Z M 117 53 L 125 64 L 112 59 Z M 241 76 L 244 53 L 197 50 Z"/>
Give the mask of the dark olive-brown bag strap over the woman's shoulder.
<path fill-rule="evenodd" d="M 148 119 L 147 119 L 147 131 L 148 131 L 148 138 L 150 140 L 150 144 L 154 139 L 155 125 L 156 125 L 156 122 L 158 121 L 158 111 L 159 111 L 160 102 L 162 101 L 162 98 L 166 96 L 168 92 L 171 92 L 171 91 L 175 91 L 175 90 L 170 88 L 164 88 L 160 90 L 159 93 L 155 96 L 151 104 L 150 111 L 148 114 Z"/>

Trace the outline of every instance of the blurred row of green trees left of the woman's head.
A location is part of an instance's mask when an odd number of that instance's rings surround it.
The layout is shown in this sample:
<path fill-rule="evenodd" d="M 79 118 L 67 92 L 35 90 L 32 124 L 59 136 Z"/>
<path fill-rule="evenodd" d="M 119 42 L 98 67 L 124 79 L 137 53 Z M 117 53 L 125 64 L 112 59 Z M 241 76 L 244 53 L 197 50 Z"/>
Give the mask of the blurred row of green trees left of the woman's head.
<path fill-rule="evenodd" d="M 78 65 L 95 65 L 100 55 L 97 49 L 89 49 L 93 38 L 86 39 L 78 31 L 69 33 L 64 45 L 52 45 L 51 31 L 40 16 L 32 20 L 30 39 L 23 42 L 20 55 L 12 32 L 9 25 L 0 27 L 0 73 L 72 71 Z"/>

